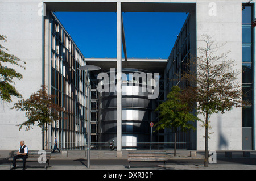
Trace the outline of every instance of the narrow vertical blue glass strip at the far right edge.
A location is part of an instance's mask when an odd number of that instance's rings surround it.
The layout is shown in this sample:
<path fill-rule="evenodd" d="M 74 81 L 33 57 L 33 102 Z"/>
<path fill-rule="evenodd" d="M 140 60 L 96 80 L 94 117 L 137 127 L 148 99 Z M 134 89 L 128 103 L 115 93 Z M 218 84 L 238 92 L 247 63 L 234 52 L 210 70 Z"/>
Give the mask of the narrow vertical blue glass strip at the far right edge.
<path fill-rule="evenodd" d="M 251 5 L 242 6 L 242 149 L 252 149 L 252 127 L 254 125 L 254 9 Z"/>

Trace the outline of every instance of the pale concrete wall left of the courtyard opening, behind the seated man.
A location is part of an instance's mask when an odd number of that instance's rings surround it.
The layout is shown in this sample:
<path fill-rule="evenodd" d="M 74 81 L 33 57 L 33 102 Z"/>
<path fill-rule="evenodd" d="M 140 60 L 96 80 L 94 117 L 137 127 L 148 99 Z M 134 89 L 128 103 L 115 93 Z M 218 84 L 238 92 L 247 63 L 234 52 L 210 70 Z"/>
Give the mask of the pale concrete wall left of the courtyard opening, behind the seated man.
<path fill-rule="evenodd" d="M 16 89 L 27 99 L 42 85 L 42 16 L 38 15 L 38 2 L 0 1 L 0 34 L 7 36 L 9 53 L 26 62 L 26 70 L 16 68 L 23 75 L 16 81 Z M 18 98 L 13 98 L 13 103 Z M 18 130 L 17 124 L 26 121 L 24 112 L 10 110 L 13 103 L 0 104 L 0 142 L 1 149 L 18 149 L 24 140 L 29 149 L 41 149 L 41 129 Z"/>

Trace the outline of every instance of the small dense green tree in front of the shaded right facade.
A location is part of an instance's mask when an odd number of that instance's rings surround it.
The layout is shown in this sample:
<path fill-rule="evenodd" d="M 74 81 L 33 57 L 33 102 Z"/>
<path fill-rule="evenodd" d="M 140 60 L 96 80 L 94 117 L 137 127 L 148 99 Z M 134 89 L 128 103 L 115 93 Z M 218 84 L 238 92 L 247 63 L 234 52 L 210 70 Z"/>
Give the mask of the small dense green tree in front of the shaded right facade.
<path fill-rule="evenodd" d="M 176 134 L 178 129 L 187 132 L 189 129 L 195 130 L 192 122 L 198 120 L 192 111 L 192 107 L 185 99 L 181 99 L 181 89 L 178 86 L 172 87 L 167 95 L 167 100 L 160 104 L 155 111 L 159 111 L 160 121 L 156 123 L 156 130 L 172 129 L 174 132 L 174 156 L 176 156 Z"/>

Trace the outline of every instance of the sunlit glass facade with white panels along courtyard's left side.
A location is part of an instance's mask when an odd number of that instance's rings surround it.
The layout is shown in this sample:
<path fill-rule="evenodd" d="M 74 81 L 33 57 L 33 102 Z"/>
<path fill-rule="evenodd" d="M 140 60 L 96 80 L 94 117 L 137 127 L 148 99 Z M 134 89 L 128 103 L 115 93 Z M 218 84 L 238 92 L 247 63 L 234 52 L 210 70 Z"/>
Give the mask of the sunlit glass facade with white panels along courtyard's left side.
<path fill-rule="evenodd" d="M 85 58 L 67 31 L 52 13 L 51 23 L 51 89 L 55 103 L 69 113 L 51 126 L 51 142 L 57 137 L 60 149 L 84 149 L 86 134 L 86 75 L 78 71 Z"/>

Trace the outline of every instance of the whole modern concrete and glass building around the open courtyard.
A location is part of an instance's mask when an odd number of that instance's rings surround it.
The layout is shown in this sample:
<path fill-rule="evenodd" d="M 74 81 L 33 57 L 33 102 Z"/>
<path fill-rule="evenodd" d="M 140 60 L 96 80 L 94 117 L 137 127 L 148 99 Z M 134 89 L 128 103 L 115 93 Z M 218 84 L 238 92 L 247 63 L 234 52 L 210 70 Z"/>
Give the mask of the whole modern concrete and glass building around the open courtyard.
<path fill-rule="evenodd" d="M 116 12 L 117 57 L 85 58 L 56 18 L 55 11 Z M 123 12 L 187 13 L 187 20 L 175 44 L 170 47 L 168 60 L 127 58 Z M 238 83 L 242 85 L 242 99 L 247 101 L 240 108 L 212 115 L 214 134 L 209 140 L 209 149 L 255 150 L 255 28 L 251 26 L 255 18 L 255 0 L 0 0 L 0 14 L 1 35 L 8 37 L 6 47 L 11 54 L 27 62 L 26 70 L 20 70 L 24 78 L 15 82 L 16 89 L 23 98 L 28 98 L 42 84 L 47 85 L 49 94 L 57 96 L 55 103 L 69 111 L 61 115 L 66 117 L 65 120 L 51 125 L 47 149 L 51 149 L 54 137 L 59 140 L 61 149 L 86 149 L 88 117 L 93 148 L 106 149 L 114 139 L 115 145 L 119 145 L 117 151 L 120 148 L 148 149 L 149 123 L 159 121 L 159 112 L 155 112 L 155 108 L 166 99 L 172 86 L 187 86 L 185 82 L 171 80 L 179 77 L 183 71 L 189 71 L 187 65 L 192 60 L 191 56 L 199 56 L 198 48 L 203 45 L 201 35 L 207 34 L 214 36 L 218 44 L 226 43 L 217 53 L 229 52 L 227 58 L 235 61 L 234 69 L 241 71 Z M 125 58 L 122 58 L 122 48 Z M 77 70 L 83 65 L 97 65 L 102 69 L 90 73 Z M 114 74 L 123 71 L 126 77 L 121 96 L 119 93 L 97 90 L 98 74 L 109 74 L 111 68 L 115 68 Z M 146 94 L 137 94 L 136 90 L 144 83 L 134 82 L 129 73 L 159 73 L 158 98 L 148 99 Z M 115 85 L 116 82 L 112 81 L 109 81 L 110 85 Z M 89 84 L 90 91 L 86 92 Z M 87 100 L 90 100 L 89 105 L 86 104 Z M 13 103 L 9 107 L 13 107 Z M 25 140 L 30 149 L 44 148 L 46 138 L 40 128 L 36 127 L 30 132 L 16 129 L 15 125 L 26 121 L 24 112 L 9 110 L 4 105 L 0 108 L 2 149 L 15 149 L 13 140 L 17 137 Z M 178 148 L 204 150 L 204 129 L 200 123 L 195 123 L 195 127 L 195 132 L 178 133 Z M 173 133 L 168 129 L 154 132 L 152 142 L 154 149 L 172 149 Z"/>

